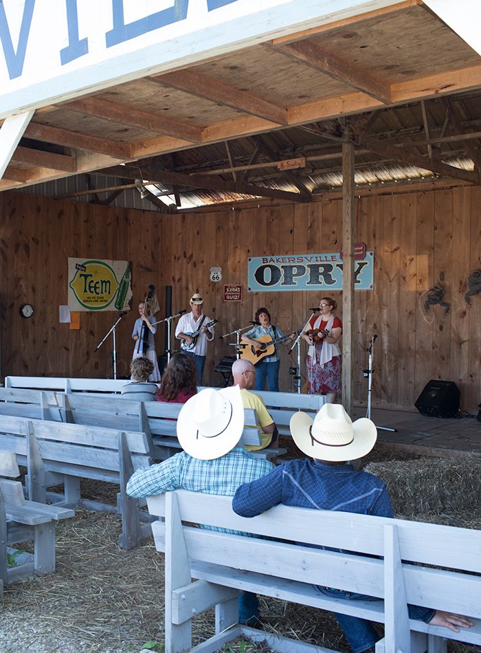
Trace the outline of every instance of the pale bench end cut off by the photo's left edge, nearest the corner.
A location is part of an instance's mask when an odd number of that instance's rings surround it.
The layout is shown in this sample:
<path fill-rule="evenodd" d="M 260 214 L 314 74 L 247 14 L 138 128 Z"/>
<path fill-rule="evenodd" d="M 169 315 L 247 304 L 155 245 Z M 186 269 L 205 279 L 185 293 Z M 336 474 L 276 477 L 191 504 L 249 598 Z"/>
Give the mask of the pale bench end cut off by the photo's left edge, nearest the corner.
<path fill-rule="evenodd" d="M 26 501 L 19 481 L 15 454 L 0 451 L 0 586 L 34 574 L 55 571 L 55 526 L 74 517 L 71 509 Z M 34 553 L 12 549 L 17 542 L 33 540 Z M 8 554 L 14 564 L 8 566 Z"/>

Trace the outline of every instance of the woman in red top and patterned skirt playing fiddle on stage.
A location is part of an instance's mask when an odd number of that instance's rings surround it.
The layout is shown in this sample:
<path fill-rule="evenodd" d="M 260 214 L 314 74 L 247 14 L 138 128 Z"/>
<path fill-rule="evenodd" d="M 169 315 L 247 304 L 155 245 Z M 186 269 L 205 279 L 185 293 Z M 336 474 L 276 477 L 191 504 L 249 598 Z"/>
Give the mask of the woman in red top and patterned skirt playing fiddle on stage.
<path fill-rule="evenodd" d="M 341 392 L 341 352 L 337 340 L 342 334 L 342 322 L 333 315 L 337 302 L 331 297 L 322 297 L 319 308 L 319 316 L 313 316 L 302 333 L 309 344 L 309 392 L 327 395 L 328 403 L 334 403 L 336 393 Z"/>

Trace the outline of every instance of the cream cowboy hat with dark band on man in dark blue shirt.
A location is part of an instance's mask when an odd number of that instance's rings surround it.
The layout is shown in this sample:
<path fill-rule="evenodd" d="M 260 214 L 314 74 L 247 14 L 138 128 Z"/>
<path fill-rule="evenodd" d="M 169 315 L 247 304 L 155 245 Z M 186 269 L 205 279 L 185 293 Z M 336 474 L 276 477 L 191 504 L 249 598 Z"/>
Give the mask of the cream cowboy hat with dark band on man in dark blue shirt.
<path fill-rule="evenodd" d="M 339 403 L 324 403 L 314 419 L 296 412 L 289 426 L 300 450 L 321 461 L 354 461 L 366 456 L 377 440 L 374 422 L 361 417 L 353 423 Z"/>

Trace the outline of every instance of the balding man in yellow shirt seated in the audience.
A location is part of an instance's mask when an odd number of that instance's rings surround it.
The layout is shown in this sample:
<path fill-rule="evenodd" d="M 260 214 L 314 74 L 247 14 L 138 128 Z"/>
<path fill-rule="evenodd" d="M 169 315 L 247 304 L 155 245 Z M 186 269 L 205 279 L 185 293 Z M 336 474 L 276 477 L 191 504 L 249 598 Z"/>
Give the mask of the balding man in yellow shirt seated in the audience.
<path fill-rule="evenodd" d="M 239 359 L 232 365 L 232 377 L 234 386 L 239 386 L 240 394 L 244 408 L 254 408 L 256 410 L 258 426 L 263 433 L 260 435 L 260 445 L 245 445 L 249 451 L 265 449 L 265 447 L 279 446 L 279 433 L 272 417 L 267 412 L 264 401 L 259 395 L 250 392 L 247 388 L 253 388 L 256 383 L 256 371 L 254 365 L 245 359 Z"/>

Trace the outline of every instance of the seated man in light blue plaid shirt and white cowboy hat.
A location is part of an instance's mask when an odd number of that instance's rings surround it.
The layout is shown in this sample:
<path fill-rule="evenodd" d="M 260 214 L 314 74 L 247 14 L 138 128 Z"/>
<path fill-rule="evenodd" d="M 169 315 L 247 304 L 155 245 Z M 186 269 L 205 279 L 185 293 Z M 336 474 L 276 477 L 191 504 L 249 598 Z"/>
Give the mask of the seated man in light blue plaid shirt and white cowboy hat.
<path fill-rule="evenodd" d="M 274 467 L 245 450 L 240 443 L 243 428 L 240 388 L 202 390 L 183 405 L 177 419 L 177 437 L 183 451 L 157 465 L 137 469 L 128 480 L 127 494 L 146 497 L 187 489 L 233 496 L 239 485 L 269 474 Z M 257 619 L 258 599 L 245 592 L 239 597 L 239 623 L 251 626 Z"/>

